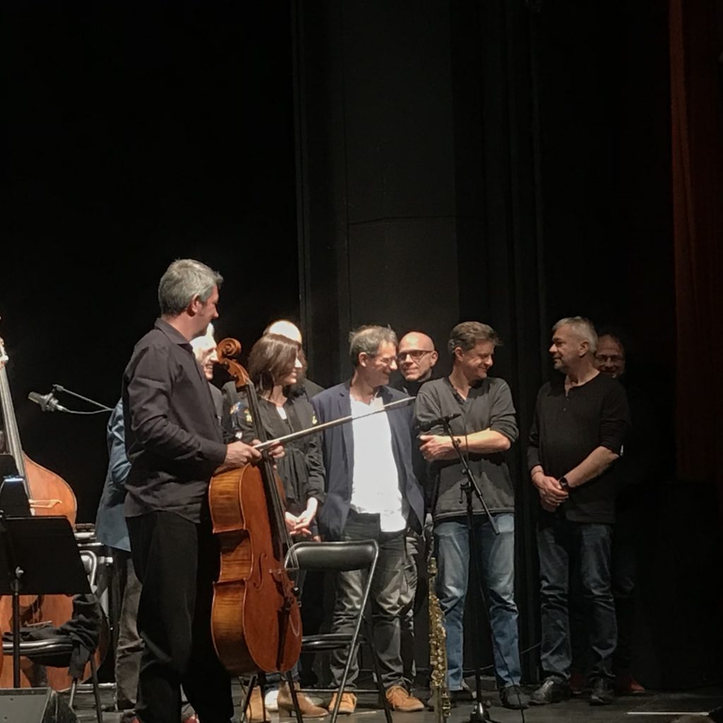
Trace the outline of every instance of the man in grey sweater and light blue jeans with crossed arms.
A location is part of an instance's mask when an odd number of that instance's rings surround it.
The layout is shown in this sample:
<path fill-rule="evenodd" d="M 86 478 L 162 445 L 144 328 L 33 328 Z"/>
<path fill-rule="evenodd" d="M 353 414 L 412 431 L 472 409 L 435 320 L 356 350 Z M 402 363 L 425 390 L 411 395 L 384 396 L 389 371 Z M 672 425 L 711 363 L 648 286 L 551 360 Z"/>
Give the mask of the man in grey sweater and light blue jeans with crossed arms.
<path fill-rule="evenodd" d="M 437 596 L 445 615 L 448 687 L 453 702 L 463 697 L 463 614 L 469 581 L 470 549 L 477 555 L 480 581 L 492 628 L 495 674 L 502 705 L 527 707 L 520 688 L 517 605 L 515 603 L 515 495 L 505 452 L 517 440 L 515 407 L 507 383 L 487 376 L 500 338 L 480 322 L 463 322 L 448 341 L 449 377 L 427 382 L 416 397 L 415 415 L 422 455 L 431 465 L 429 480 L 437 549 Z M 454 416 L 450 429 L 466 455 L 497 534 L 476 495 L 472 529 L 461 485 L 466 474 L 445 435 L 441 417 Z M 469 537 L 473 536 L 470 545 Z"/>

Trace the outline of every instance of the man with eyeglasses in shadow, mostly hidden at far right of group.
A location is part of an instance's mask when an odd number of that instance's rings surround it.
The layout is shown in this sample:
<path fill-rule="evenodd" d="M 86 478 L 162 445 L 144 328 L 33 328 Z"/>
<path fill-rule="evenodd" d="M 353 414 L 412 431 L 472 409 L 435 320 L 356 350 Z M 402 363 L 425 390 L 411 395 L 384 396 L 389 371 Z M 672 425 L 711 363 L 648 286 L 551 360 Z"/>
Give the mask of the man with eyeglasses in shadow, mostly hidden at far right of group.
<path fill-rule="evenodd" d="M 612 660 L 615 693 L 635 696 L 645 693 L 643 685 L 630 672 L 635 629 L 636 584 L 641 540 L 641 520 L 645 515 L 646 492 L 656 478 L 658 424 L 648 395 L 631 383 L 626 369 L 623 334 L 601 329 L 595 354 L 595 367 L 617 379 L 625 387 L 632 427 L 625 439 L 625 454 L 615 463 L 615 536 L 612 539 L 612 595 L 617 617 L 617 648 Z"/>

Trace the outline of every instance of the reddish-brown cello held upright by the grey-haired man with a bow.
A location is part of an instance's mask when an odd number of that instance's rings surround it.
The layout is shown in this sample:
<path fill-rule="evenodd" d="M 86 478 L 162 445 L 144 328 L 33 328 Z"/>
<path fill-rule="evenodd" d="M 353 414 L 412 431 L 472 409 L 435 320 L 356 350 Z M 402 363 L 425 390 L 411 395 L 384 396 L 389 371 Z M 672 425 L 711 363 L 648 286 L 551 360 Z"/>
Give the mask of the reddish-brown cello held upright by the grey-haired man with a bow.
<path fill-rule="evenodd" d="M 265 442 L 254 385 L 246 370 L 226 356 L 240 351 L 236 345 L 223 340 L 218 345 L 219 361 L 236 377 L 237 388 L 244 388 L 257 438 Z M 284 518 L 283 485 L 268 451 L 262 452 L 259 465 L 215 474 L 208 496 L 213 534 L 221 550 L 211 612 L 218 658 L 232 675 L 287 672 L 301 653 L 301 612 L 286 569 L 291 537 Z"/>

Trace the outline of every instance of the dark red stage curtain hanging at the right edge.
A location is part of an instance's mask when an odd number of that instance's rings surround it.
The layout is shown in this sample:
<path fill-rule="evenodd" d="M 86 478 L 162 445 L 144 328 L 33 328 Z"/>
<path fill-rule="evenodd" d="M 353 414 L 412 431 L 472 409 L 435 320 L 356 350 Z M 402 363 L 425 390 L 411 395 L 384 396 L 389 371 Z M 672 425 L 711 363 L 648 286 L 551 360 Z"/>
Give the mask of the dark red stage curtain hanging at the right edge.
<path fill-rule="evenodd" d="M 723 502 L 723 2 L 670 0 L 669 14 L 677 474 L 714 480 Z"/>

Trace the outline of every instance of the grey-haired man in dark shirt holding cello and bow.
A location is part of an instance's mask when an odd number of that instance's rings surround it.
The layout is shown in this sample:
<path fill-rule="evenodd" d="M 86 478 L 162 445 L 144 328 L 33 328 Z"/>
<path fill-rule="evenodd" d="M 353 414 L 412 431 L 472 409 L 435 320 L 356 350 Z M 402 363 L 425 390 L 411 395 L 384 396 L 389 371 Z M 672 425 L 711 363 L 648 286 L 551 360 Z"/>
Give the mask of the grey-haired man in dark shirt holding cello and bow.
<path fill-rule="evenodd" d="M 205 264 L 174 261 L 158 286 L 161 317 L 135 346 L 123 375 L 125 514 L 142 584 L 143 639 L 137 716 L 177 723 L 181 684 L 200 720 L 228 722 L 231 680 L 210 635 L 218 546 L 208 484 L 220 469 L 260 458 L 244 442 L 222 442 L 221 425 L 192 346 L 218 317 L 223 279 Z"/>

